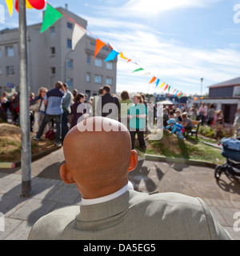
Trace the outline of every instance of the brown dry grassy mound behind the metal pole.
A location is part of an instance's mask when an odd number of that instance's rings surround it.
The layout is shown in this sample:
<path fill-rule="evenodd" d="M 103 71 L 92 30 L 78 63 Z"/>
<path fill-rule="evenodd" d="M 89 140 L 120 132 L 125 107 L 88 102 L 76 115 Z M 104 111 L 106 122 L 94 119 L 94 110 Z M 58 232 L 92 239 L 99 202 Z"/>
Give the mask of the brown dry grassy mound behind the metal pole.
<path fill-rule="evenodd" d="M 31 137 L 34 134 L 31 134 Z M 39 154 L 54 148 L 54 142 L 42 136 L 39 142 L 31 140 L 31 154 Z M 21 160 L 21 129 L 8 123 L 0 123 L 0 162 Z"/>

